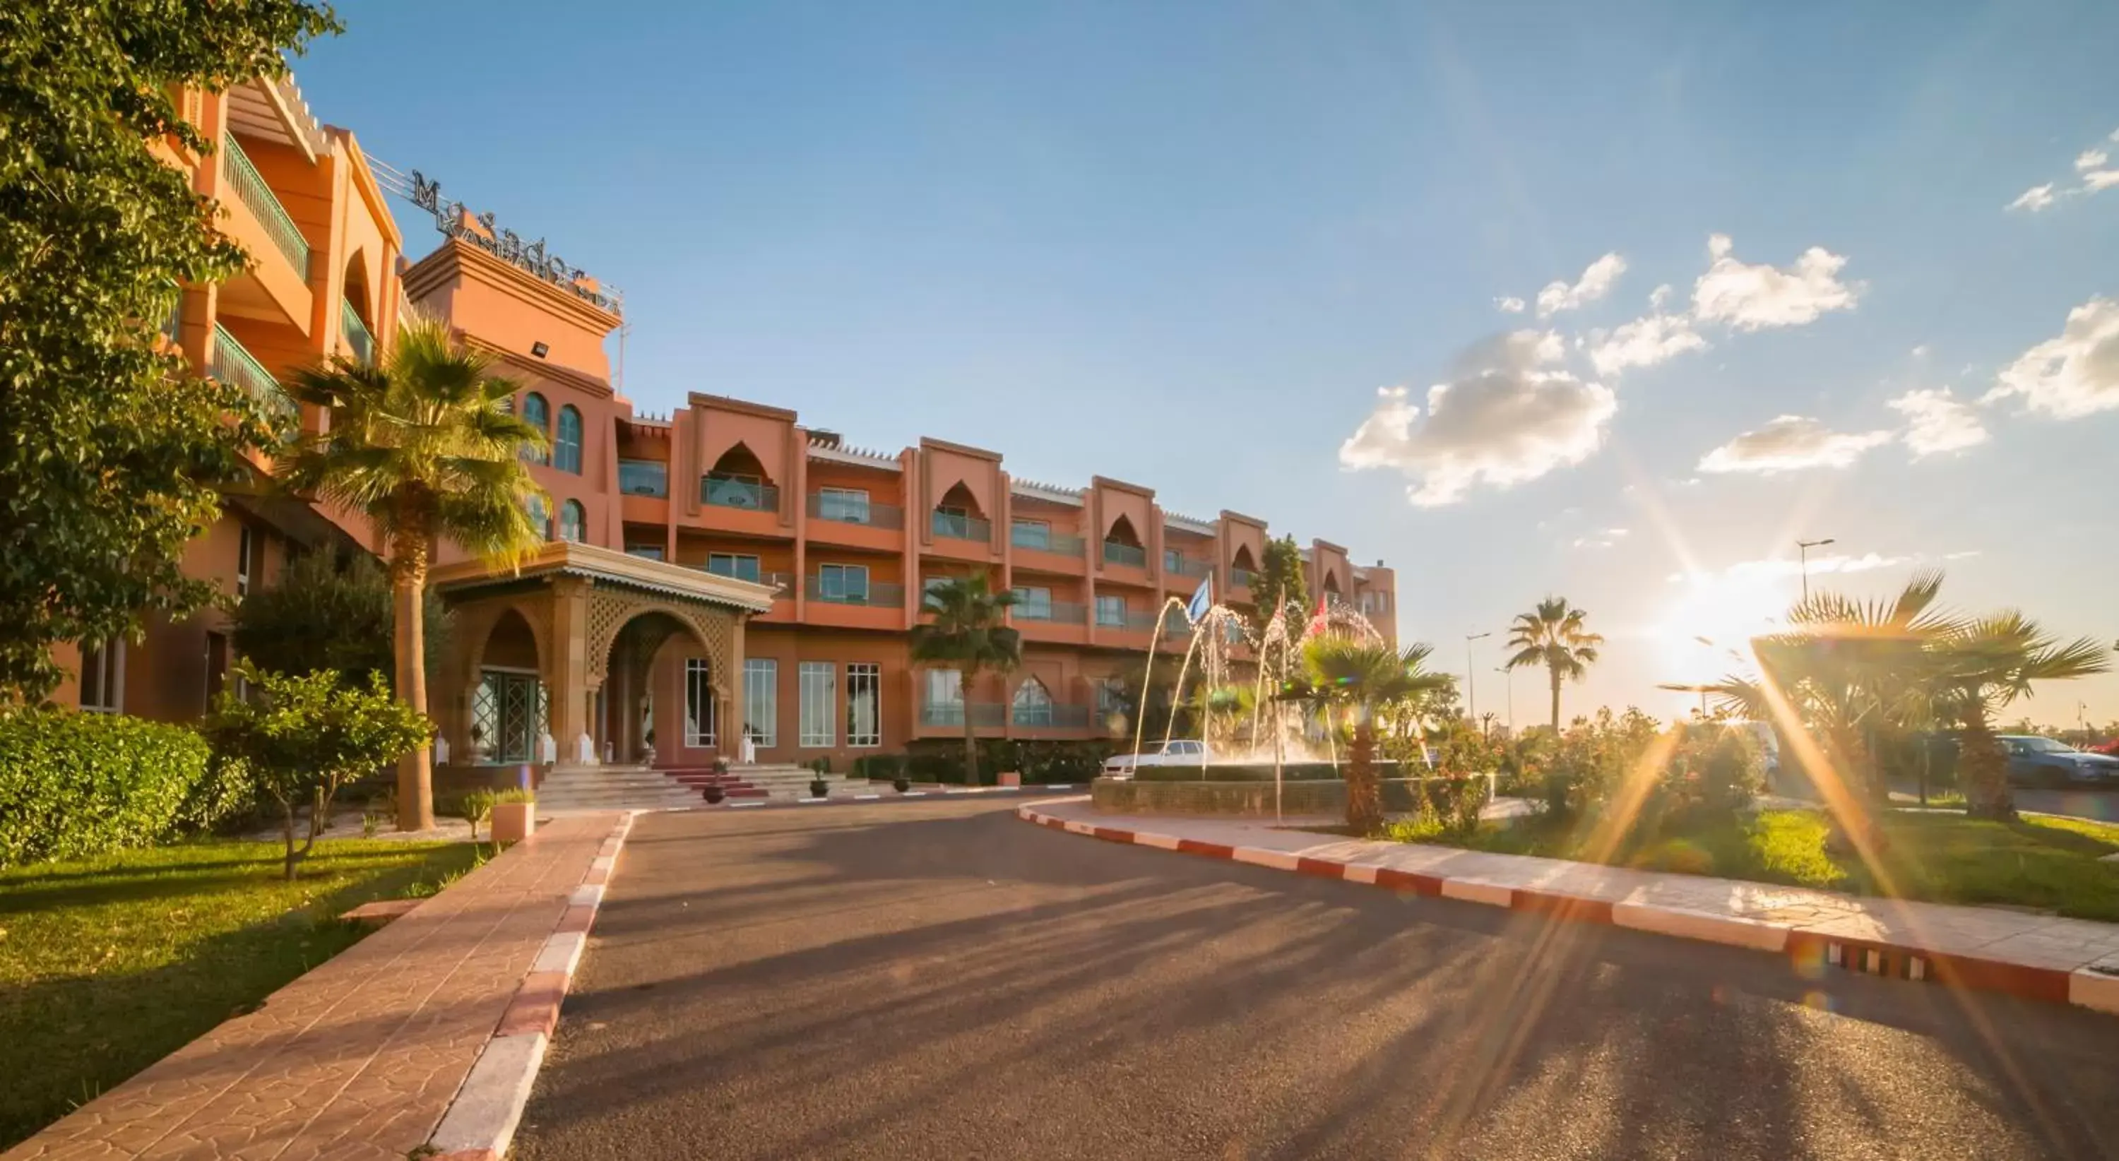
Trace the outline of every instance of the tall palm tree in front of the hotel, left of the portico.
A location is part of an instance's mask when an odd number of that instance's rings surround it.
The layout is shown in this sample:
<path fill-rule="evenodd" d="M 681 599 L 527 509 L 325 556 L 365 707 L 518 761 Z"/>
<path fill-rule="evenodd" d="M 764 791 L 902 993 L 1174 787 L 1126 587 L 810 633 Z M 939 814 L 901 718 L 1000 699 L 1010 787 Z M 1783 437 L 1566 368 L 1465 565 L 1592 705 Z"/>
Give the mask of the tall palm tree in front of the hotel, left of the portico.
<path fill-rule="evenodd" d="M 509 409 L 517 383 L 492 375 L 494 358 L 460 345 L 449 326 L 413 318 L 390 354 L 364 364 L 333 358 L 297 373 L 286 390 L 328 409 L 331 424 L 280 456 L 280 481 L 335 500 L 375 521 L 392 589 L 396 695 L 426 712 L 422 602 L 437 538 L 494 566 L 519 561 L 545 540 L 530 519 L 545 489 L 523 466 L 545 432 Z M 398 828 L 434 826 L 428 750 L 398 761 Z"/>

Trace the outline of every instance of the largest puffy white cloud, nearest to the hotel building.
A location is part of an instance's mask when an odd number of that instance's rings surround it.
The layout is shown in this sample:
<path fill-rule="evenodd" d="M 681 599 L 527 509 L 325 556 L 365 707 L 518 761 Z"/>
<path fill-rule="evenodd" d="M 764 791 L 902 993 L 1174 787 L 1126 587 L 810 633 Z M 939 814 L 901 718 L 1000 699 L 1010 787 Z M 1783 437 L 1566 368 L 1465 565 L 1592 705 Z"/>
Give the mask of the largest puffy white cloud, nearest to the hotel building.
<path fill-rule="evenodd" d="M 1348 468 L 1396 468 L 1413 504 L 1454 504 L 1473 485 L 1511 487 L 1593 456 L 1619 400 L 1564 371 L 1560 335 L 1515 331 L 1464 352 L 1428 388 L 1426 415 L 1405 388 L 1377 392 L 1375 411 L 1339 445 Z"/>

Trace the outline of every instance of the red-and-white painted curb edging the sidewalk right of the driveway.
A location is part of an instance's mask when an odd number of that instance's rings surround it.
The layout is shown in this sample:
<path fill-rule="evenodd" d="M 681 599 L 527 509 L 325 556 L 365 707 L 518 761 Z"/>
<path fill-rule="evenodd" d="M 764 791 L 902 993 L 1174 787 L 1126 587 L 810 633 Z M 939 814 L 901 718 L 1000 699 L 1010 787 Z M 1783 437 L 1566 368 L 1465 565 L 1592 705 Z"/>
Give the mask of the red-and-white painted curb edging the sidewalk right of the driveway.
<path fill-rule="evenodd" d="M 1305 854 L 1276 850 L 1231 847 L 1199 839 L 1180 839 L 1176 835 L 1157 835 L 1151 830 L 1096 826 L 1093 822 L 1043 814 L 1028 805 L 1015 807 L 1015 816 L 1026 822 L 1036 822 L 1038 826 L 1051 826 L 1053 830 L 1066 830 L 1070 835 L 1087 835 L 1108 843 L 1134 843 L 1180 854 L 1199 854 L 1206 858 L 1227 858 L 1231 862 L 1271 867 L 1276 871 L 1293 871 L 1297 875 L 1314 875 L 1320 879 L 1341 879 L 1348 883 L 1367 883 L 1394 892 L 1483 903 L 1488 907 L 1504 907 L 1511 911 L 1534 911 L 1555 919 L 1608 924 L 1676 939 L 1697 939 L 1729 947 L 1748 947 L 1752 951 L 1774 951 L 1810 968 L 1833 966 L 1863 975 L 1939 981 L 1952 987 L 2002 992 L 2030 1000 L 2049 1000 L 2058 1004 L 2079 1004 L 2104 1013 L 2119 1013 L 2119 977 L 2102 975 L 2089 968 L 2041 968 L 2032 964 L 2011 964 L 2007 960 L 1939 953 L 1924 947 L 1827 936 L 1769 919 L 1716 915 L 1710 911 L 1689 911 L 1680 907 L 1642 903 L 1610 903 L 1604 898 L 1498 883 L 1477 875 L 1422 875 L 1418 871 L 1396 871 L 1392 867 L 1375 867 L 1341 858 L 1312 858 Z"/>

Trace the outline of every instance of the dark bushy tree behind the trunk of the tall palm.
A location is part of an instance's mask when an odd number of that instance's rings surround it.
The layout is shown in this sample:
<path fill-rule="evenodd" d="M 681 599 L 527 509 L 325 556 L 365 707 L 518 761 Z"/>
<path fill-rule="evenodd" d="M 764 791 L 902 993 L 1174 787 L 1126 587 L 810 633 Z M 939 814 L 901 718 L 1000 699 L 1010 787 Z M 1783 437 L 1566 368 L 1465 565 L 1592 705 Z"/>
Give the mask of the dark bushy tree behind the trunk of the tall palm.
<path fill-rule="evenodd" d="M 337 669 L 348 682 L 367 682 L 396 669 L 392 604 L 390 578 L 367 555 L 341 566 L 331 553 L 305 553 L 235 606 L 235 653 L 275 674 Z M 422 602 L 422 617 L 424 661 L 434 669 L 449 614 L 441 602 Z"/>

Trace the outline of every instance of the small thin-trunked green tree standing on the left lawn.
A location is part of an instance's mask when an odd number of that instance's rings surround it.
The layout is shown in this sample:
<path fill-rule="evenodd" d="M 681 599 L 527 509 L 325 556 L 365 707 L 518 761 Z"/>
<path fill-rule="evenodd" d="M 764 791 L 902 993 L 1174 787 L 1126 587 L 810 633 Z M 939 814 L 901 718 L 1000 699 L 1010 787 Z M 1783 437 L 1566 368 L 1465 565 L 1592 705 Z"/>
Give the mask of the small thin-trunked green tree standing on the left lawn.
<path fill-rule="evenodd" d="M 250 680 L 252 695 L 222 693 L 206 733 L 222 758 L 244 763 L 259 790 L 280 803 L 286 877 L 292 879 L 295 867 L 331 826 L 339 786 L 424 750 L 434 722 L 392 697 L 381 674 L 369 674 L 362 689 L 343 684 L 333 669 L 273 674 L 244 663 L 237 672 Z M 307 841 L 297 847 L 303 807 Z"/>

